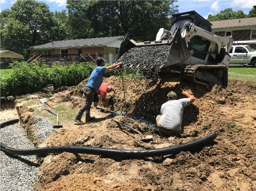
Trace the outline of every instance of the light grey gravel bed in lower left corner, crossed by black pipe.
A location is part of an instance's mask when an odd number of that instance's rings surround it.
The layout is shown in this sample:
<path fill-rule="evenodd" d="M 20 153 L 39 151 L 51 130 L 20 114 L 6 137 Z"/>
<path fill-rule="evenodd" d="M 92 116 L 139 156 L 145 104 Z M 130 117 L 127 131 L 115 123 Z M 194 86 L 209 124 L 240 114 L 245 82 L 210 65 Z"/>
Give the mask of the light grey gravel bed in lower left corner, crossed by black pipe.
<path fill-rule="evenodd" d="M 0 129 L 0 142 L 12 148 L 34 148 L 25 136 L 19 123 Z M 0 190 L 32 191 L 39 172 L 39 166 L 34 160 L 35 156 L 8 156 L 0 151 Z"/>

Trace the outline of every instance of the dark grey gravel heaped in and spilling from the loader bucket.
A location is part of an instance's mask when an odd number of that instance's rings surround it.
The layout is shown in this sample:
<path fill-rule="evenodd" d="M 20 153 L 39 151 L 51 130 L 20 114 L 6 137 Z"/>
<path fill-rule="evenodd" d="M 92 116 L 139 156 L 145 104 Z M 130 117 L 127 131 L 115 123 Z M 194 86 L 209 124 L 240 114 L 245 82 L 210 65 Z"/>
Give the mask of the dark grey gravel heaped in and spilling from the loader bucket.
<path fill-rule="evenodd" d="M 148 77 L 156 78 L 157 71 L 166 61 L 170 48 L 170 45 L 131 48 L 117 62 L 123 62 L 124 67 L 133 67 L 135 72 L 138 68 L 145 69 Z"/>

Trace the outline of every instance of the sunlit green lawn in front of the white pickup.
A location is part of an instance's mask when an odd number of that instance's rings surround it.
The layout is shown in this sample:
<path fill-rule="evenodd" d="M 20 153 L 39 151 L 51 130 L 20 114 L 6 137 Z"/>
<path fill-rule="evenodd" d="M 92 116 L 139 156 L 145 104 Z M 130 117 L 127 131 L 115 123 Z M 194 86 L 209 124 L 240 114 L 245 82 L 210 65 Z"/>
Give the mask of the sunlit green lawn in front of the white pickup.
<path fill-rule="evenodd" d="M 229 68 L 229 79 L 235 79 L 244 82 L 256 82 L 256 68 L 248 66 L 235 66 Z"/>

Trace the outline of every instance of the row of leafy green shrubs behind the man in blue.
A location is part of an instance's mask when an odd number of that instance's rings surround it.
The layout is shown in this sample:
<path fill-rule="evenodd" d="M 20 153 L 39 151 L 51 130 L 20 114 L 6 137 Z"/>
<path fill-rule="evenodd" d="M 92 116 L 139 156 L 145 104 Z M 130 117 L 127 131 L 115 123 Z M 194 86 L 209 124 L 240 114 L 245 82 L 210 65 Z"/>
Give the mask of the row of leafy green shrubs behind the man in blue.
<path fill-rule="evenodd" d="M 39 66 L 37 62 L 17 62 L 11 64 L 13 71 L 0 79 L 0 96 L 21 95 L 41 91 L 47 84 L 55 88 L 75 86 L 86 78 L 96 67 L 91 62 L 81 62 L 69 66 L 48 65 Z M 106 64 L 109 66 L 109 64 Z M 132 70 L 124 70 L 124 75 L 133 76 Z M 104 73 L 104 77 L 121 75 L 120 70 Z"/>

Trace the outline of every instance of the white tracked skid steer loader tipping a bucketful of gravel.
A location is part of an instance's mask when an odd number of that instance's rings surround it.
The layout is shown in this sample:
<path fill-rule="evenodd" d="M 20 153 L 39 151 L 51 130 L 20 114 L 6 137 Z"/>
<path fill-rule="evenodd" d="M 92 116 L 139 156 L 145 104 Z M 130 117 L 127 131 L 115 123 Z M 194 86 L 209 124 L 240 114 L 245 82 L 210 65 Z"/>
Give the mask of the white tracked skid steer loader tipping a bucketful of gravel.
<path fill-rule="evenodd" d="M 206 86 L 227 87 L 232 37 L 212 34 L 212 24 L 195 11 L 173 14 L 171 22 L 171 31 L 160 29 L 155 41 L 136 42 L 126 34 L 115 61 L 124 61 L 124 66 L 130 68 L 148 70 L 155 67 L 158 72 L 180 73 L 180 78 Z M 157 48 L 158 53 L 153 48 Z M 136 56 L 140 49 L 143 53 L 147 49 L 150 51 L 143 54 L 143 59 L 137 55 L 138 59 L 129 62 L 128 58 Z M 167 51 L 162 54 L 159 49 Z M 133 52 L 132 55 L 129 52 Z M 152 56 L 162 63 L 152 61 Z"/>

